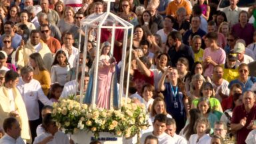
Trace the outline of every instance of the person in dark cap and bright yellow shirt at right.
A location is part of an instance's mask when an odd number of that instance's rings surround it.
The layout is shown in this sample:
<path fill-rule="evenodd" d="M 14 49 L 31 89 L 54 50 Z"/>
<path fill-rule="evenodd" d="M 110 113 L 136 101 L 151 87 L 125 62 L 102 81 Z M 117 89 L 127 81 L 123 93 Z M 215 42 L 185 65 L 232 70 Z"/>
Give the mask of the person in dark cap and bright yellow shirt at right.
<path fill-rule="evenodd" d="M 223 69 L 223 79 L 226 79 L 228 82 L 236 79 L 239 76 L 238 67 L 235 65 L 237 62 L 237 53 L 229 53 L 227 55 L 227 61 Z"/>

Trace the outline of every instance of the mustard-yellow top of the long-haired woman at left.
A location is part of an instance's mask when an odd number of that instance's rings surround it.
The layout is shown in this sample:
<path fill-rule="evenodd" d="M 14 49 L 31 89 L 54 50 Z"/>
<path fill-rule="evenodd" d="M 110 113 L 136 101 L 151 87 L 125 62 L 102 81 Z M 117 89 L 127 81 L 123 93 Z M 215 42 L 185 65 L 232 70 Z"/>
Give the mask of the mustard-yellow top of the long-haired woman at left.
<path fill-rule="evenodd" d="M 41 87 L 43 89 L 43 93 L 47 95 L 49 93 L 49 89 L 51 86 L 51 77 L 50 73 L 48 71 L 40 71 L 38 75 L 33 75 L 33 79 L 36 79 L 41 84 Z"/>

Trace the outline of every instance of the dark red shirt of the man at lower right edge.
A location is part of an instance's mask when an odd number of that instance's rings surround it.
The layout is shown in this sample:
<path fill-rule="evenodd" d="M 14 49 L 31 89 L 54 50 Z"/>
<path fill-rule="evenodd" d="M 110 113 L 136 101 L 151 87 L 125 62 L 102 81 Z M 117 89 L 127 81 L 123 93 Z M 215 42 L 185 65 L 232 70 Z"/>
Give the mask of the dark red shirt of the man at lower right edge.
<path fill-rule="evenodd" d="M 231 119 L 231 123 L 239 123 L 241 119 L 246 117 L 246 123 L 245 126 L 242 129 L 239 129 L 237 131 L 237 143 L 238 144 L 245 144 L 245 139 L 249 132 L 252 129 L 247 129 L 246 127 L 251 123 L 251 120 L 256 119 L 256 105 L 254 104 L 253 107 L 251 108 L 251 111 L 247 113 L 245 111 L 245 106 L 244 105 L 239 105 L 235 107 L 233 110 L 233 115 Z"/>

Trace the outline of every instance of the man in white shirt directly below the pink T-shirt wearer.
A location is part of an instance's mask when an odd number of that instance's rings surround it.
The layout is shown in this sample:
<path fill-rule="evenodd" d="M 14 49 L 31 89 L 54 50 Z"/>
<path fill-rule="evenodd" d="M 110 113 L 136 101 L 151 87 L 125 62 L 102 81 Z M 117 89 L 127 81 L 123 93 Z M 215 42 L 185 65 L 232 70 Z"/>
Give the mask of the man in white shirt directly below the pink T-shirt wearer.
<path fill-rule="evenodd" d="M 213 88 L 215 89 L 215 98 L 219 99 L 219 102 L 229 96 L 229 82 L 223 79 L 223 74 L 221 65 L 216 65 L 213 68 Z"/>

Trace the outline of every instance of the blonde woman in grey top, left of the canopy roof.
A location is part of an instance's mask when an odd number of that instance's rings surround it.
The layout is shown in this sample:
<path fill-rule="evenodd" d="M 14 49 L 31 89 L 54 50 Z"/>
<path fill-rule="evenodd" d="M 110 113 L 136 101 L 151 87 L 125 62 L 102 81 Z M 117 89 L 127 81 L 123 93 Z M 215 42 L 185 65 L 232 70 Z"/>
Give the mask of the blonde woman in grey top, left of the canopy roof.
<path fill-rule="evenodd" d="M 65 7 L 64 19 L 59 20 L 59 23 L 57 23 L 57 27 L 59 27 L 59 31 L 61 31 L 61 33 L 67 32 L 71 27 L 73 27 L 74 15 L 75 11 L 72 7 Z"/>

